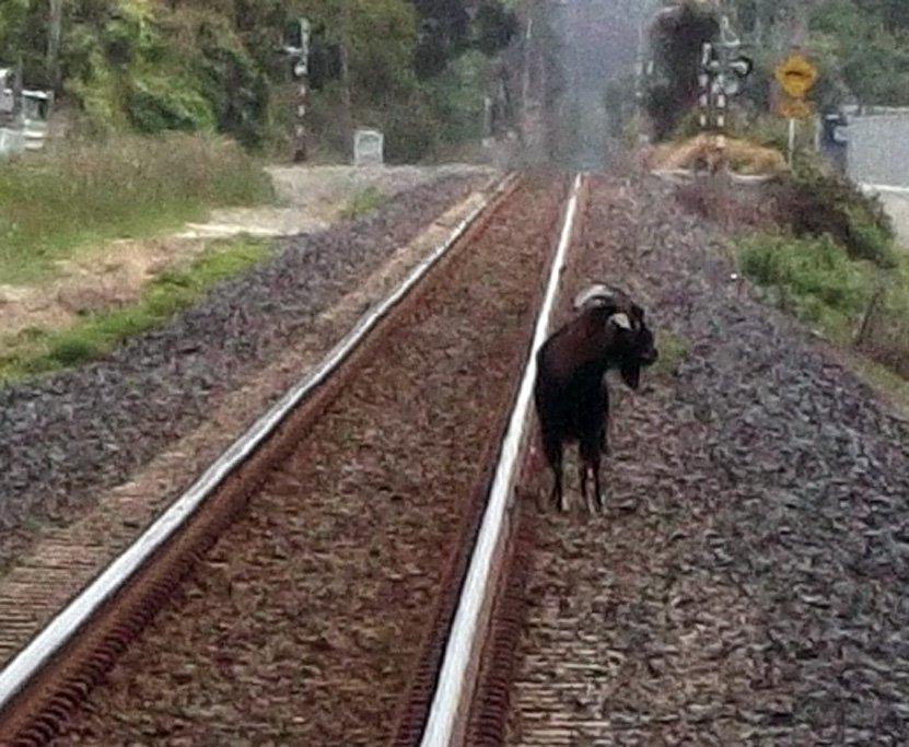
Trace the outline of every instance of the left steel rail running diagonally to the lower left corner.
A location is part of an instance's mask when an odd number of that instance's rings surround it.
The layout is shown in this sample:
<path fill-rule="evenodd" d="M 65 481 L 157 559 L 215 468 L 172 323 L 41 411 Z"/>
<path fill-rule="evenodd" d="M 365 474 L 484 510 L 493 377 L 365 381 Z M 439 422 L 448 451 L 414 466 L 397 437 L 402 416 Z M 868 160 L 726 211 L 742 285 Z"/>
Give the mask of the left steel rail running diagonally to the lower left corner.
<path fill-rule="evenodd" d="M 223 481 L 271 435 L 287 417 L 325 382 L 388 314 L 457 243 L 470 225 L 516 178 L 509 174 L 482 205 L 455 226 L 448 237 L 421 259 L 395 290 L 361 316 L 323 361 L 291 387 L 241 435 L 182 495 L 176 498 L 120 556 L 112 561 L 0 672 L 0 711 L 37 677 L 145 562 L 206 503 Z"/>

